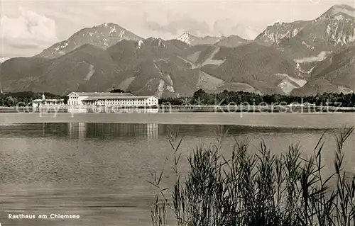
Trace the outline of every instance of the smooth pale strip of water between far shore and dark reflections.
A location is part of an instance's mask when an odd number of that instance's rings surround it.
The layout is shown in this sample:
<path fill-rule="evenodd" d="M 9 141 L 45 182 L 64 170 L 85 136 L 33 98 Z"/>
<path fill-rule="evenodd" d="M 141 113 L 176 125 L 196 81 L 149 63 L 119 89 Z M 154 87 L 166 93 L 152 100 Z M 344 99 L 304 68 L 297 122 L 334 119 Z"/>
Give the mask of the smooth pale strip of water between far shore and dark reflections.
<path fill-rule="evenodd" d="M 152 123 L 325 129 L 354 125 L 355 113 L 0 113 L 0 124 L 11 123 Z"/>

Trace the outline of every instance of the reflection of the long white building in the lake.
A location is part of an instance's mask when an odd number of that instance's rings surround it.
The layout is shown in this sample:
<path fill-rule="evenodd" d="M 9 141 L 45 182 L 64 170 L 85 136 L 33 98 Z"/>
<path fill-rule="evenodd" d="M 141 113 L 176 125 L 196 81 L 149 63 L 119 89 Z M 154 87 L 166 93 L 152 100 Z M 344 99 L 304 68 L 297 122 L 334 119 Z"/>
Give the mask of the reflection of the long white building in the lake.
<path fill-rule="evenodd" d="M 71 139 L 94 137 L 146 137 L 158 138 L 159 125 L 121 123 L 68 123 L 68 137 Z"/>

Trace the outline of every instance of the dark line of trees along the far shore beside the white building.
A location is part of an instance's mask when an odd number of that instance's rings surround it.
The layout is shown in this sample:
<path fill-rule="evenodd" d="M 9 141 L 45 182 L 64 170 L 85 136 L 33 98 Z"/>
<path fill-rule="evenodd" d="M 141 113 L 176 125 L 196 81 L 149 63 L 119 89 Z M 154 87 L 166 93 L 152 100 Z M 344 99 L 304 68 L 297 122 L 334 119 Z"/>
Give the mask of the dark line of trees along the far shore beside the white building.
<path fill-rule="evenodd" d="M 114 89 L 111 92 L 124 92 Z M 0 94 L 1 107 L 29 106 L 35 99 L 41 98 L 45 94 L 48 98 L 63 98 L 67 103 L 67 96 L 60 96 L 50 93 L 35 93 L 32 91 L 11 92 Z M 244 91 L 224 90 L 219 94 L 209 94 L 199 89 L 192 96 L 163 97 L 159 100 L 159 105 L 170 106 L 227 106 L 227 105 L 261 105 L 261 104 L 293 104 L 309 103 L 315 106 L 334 106 L 334 107 L 354 107 L 355 94 L 336 94 L 324 93 L 313 96 L 290 96 L 281 94 L 255 94 Z"/>

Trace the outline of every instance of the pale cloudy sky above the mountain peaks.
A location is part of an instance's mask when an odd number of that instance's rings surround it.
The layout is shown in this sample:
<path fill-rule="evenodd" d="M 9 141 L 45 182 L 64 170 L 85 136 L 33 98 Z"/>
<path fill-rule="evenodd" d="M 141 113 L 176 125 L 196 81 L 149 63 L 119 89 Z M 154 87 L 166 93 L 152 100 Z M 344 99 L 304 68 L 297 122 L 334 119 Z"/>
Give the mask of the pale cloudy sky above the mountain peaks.
<path fill-rule="evenodd" d="M 275 22 L 312 20 L 354 1 L 0 1 L 0 56 L 31 57 L 82 28 L 116 23 L 143 38 L 240 35 L 253 39 Z"/>

